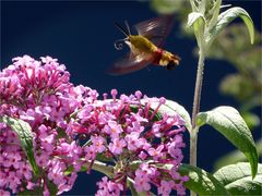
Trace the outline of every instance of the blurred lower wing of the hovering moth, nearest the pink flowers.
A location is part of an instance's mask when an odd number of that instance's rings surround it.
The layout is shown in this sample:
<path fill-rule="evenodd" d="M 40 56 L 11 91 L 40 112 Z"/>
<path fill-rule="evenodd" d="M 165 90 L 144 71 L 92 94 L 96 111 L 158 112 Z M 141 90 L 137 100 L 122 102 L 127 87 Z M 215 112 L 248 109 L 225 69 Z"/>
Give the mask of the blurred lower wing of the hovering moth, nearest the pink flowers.
<path fill-rule="evenodd" d="M 144 60 L 141 56 L 128 53 L 123 59 L 120 59 L 111 68 L 109 68 L 107 73 L 110 75 L 123 75 L 141 70 L 150 63 L 151 60 Z"/>

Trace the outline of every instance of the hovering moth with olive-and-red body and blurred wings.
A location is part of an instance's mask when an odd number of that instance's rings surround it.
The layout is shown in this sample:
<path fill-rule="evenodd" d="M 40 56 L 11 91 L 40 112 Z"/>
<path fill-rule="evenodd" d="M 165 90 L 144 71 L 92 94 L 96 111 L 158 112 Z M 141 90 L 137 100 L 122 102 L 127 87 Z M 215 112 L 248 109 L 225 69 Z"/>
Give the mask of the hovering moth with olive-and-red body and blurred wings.
<path fill-rule="evenodd" d="M 123 42 L 129 46 L 130 52 L 110 66 L 107 73 L 122 75 L 139 71 L 148 64 L 174 70 L 179 64 L 180 58 L 162 47 L 172 26 L 171 16 L 162 16 L 147 20 L 134 25 L 138 35 L 132 35 L 130 26 L 124 21 L 126 28 L 115 23 L 117 28 L 126 36 L 115 41 L 115 47 L 121 50 Z"/>

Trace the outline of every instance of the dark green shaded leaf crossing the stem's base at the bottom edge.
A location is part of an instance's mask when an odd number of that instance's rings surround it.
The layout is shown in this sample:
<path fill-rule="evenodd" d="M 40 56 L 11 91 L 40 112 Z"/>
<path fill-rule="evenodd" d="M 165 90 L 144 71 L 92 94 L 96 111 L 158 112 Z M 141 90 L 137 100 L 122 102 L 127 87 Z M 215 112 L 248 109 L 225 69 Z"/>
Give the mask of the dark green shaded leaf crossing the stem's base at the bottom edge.
<path fill-rule="evenodd" d="M 189 181 L 184 183 L 184 186 L 199 195 L 229 195 L 219 181 L 198 167 L 181 164 L 179 173 L 189 176 Z"/>

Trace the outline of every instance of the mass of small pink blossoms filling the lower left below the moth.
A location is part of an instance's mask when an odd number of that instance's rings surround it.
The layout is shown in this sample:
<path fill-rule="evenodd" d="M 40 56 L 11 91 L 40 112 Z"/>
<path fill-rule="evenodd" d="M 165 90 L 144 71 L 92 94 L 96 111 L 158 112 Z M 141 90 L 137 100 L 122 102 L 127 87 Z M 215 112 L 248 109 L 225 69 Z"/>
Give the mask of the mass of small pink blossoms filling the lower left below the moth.
<path fill-rule="evenodd" d="M 165 99 L 140 91 L 117 99 L 114 89 L 112 99 L 104 94 L 99 100 L 96 90 L 69 78 L 64 65 L 50 57 L 15 58 L 0 73 L 0 117 L 29 123 L 41 171 L 34 176 L 15 132 L 0 123 L 0 195 L 35 188 L 50 195 L 50 183 L 57 194 L 68 192 L 78 172 L 85 168 L 88 173 L 97 160 L 112 172 L 97 183 L 96 195 L 122 195 L 129 188 L 150 193 L 153 187 L 159 195 L 172 189 L 183 195 L 188 177 L 178 168 L 184 122 L 177 114 L 158 117 Z"/>

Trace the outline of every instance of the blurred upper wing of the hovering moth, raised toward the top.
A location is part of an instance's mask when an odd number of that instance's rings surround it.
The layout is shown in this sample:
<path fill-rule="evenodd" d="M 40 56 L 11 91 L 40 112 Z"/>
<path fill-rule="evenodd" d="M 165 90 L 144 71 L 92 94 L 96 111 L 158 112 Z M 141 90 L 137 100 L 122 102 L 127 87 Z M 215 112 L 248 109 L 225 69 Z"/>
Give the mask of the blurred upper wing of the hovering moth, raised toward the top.
<path fill-rule="evenodd" d="M 162 16 L 147 20 L 134 25 L 139 35 L 148 38 L 157 47 L 163 47 L 164 41 L 171 30 L 174 16 Z"/>

